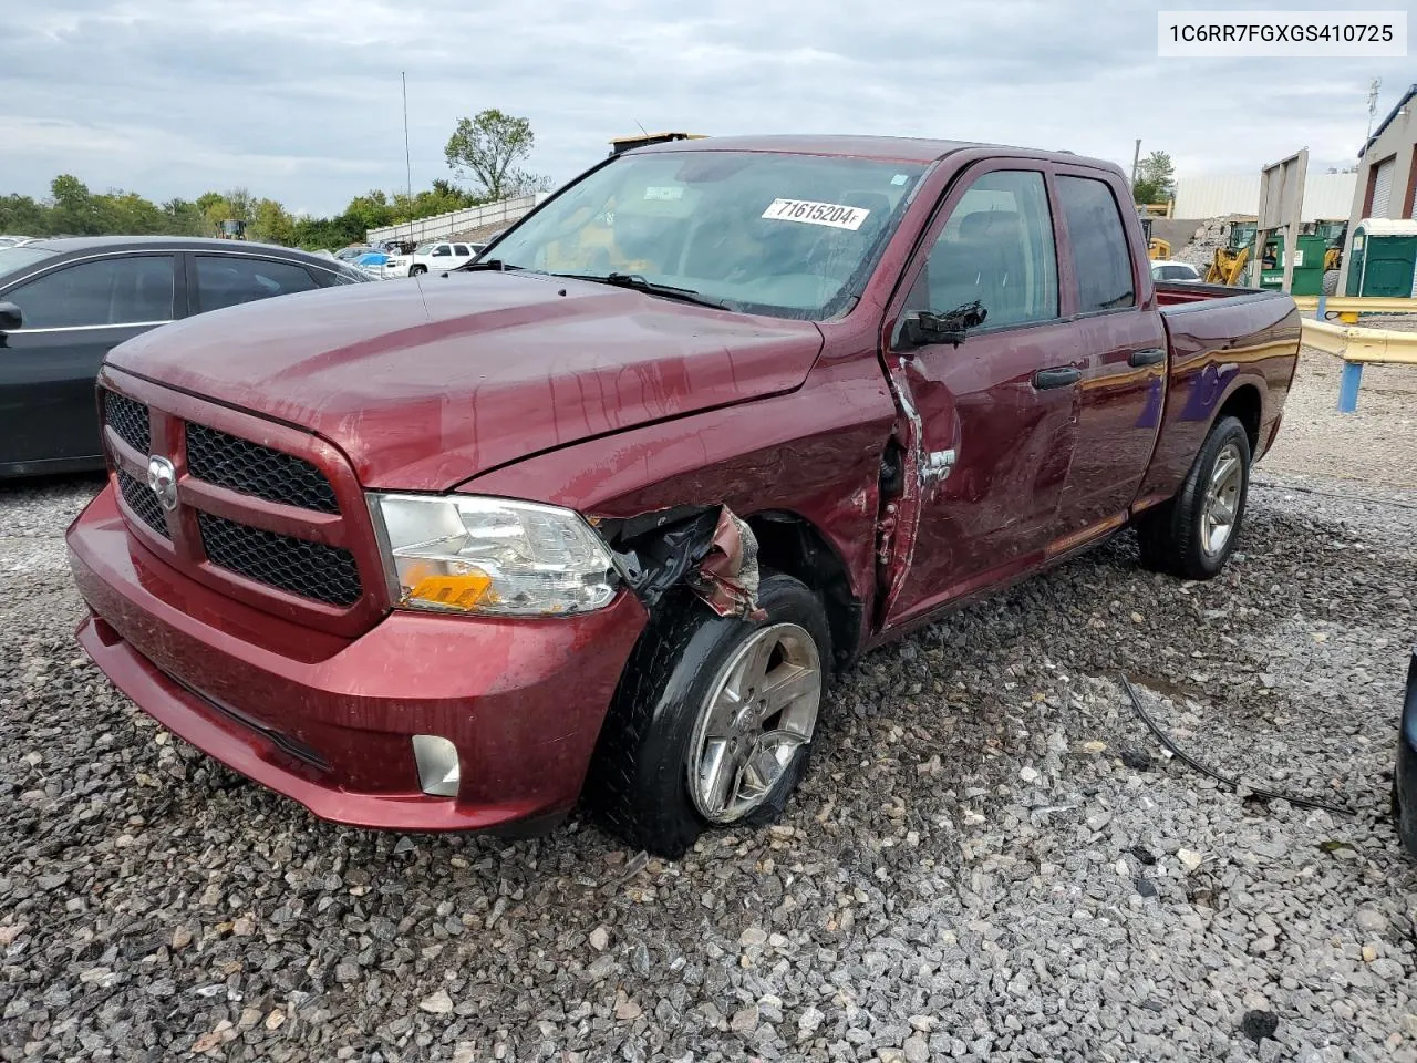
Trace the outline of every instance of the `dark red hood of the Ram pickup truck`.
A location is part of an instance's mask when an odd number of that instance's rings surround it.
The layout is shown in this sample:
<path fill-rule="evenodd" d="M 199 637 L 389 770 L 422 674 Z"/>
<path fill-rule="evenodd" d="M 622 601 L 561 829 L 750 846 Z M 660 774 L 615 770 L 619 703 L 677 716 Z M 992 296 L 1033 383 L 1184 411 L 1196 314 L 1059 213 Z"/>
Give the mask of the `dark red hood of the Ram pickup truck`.
<path fill-rule="evenodd" d="M 444 490 L 606 432 L 791 391 L 811 322 L 534 274 L 281 296 L 116 347 L 109 364 L 324 437 L 368 488 Z"/>

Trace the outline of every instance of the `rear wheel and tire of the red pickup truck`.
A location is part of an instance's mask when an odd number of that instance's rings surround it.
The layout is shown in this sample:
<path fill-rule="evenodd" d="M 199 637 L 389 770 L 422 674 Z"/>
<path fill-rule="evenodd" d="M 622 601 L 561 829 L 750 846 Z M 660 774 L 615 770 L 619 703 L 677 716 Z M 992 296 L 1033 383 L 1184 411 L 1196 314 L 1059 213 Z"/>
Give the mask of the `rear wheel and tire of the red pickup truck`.
<path fill-rule="evenodd" d="M 1231 486 L 1230 473 L 1220 471 L 1224 490 L 1217 493 L 1226 505 L 1212 509 L 1210 486 L 1217 476 L 1221 455 L 1236 462 L 1236 479 Z M 1176 496 L 1136 519 L 1142 564 L 1183 580 L 1210 580 L 1219 575 L 1240 540 L 1248 495 L 1250 437 L 1237 418 L 1224 417 L 1210 429 Z M 1221 540 L 1217 534 L 1221 522 L 1207 520 L 1207 516 L 1213 519 L 1226 512 L 1230 523 Z"/>

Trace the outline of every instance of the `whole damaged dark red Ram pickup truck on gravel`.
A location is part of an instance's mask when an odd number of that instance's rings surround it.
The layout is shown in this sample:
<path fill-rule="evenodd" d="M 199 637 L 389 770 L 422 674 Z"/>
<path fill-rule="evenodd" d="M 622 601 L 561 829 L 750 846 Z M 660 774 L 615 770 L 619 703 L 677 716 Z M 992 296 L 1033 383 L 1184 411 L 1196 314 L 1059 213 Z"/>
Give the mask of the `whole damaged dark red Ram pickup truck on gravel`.
<path fill-rule="evenodd" d="M 779 815 L 833 670 L 1135 526 L 1206 578 L 1299 322 L 1155 285 L 1068 153 L 674 142 L 459 272 L 203 315 L 99 377 L 88 653 L 316 815 L 676 855 Z"/>

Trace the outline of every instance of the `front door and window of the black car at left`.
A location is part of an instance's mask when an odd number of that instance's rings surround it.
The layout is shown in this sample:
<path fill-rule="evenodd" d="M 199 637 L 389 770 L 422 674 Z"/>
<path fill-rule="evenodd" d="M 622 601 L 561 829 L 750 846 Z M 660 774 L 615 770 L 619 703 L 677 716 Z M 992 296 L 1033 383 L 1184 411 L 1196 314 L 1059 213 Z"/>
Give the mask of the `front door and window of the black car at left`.
<path fill-rule="evenodd" d="M 44 472 L 102 461 L 94 381 L 123 340 L 180 316 L 171 254 L 58 265 L 0 292 L 24 313 L 0 333 L 0 465 Z"/>

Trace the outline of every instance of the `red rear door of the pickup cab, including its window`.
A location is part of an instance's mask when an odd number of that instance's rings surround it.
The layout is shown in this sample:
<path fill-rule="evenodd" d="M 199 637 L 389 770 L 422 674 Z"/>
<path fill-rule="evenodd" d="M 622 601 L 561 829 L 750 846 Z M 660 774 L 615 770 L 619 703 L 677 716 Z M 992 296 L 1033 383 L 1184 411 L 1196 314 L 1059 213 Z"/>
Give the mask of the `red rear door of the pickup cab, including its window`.
<path fill-rule="evenodd" d="M 1128 242 L 1124 189 L 1107 177 L 1083 167 L 1058 167 L 1054 176 L 1068 248 L 1063 300 L 1077 322 L 1084 359 L 1077 449 L 1054 550 L 1087 541 L 1125 519 L 1161 431 L 1166 330 L 1144 255 Z"/>

